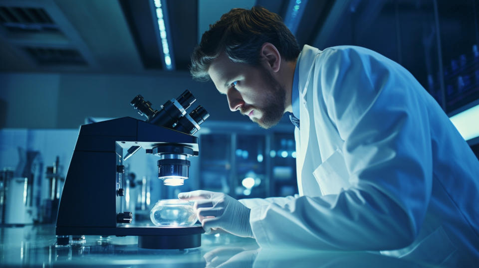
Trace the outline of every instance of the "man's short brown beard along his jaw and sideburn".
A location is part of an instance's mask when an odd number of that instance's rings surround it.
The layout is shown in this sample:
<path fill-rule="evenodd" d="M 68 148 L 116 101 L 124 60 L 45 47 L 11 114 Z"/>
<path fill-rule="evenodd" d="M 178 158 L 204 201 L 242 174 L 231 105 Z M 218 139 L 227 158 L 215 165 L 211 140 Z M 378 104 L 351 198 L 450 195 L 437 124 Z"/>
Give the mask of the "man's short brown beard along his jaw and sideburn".
<path fill-rule="evenodd" d="M 286 90 L 282 87 L 276 79 L 265 68 L 260 67 L 260 72 L 265 78 L 266 85 L 269 85 L 265 89 L 269 94 L 266 106 L 257 108 L 262 112 L 262 117 L 257 119 L 253 118 L 252 121 L 257 123 L 259 127 L 263 129 L 269 129 L 276 126 L 284 114 L 284 106 L 286 101 Z"/>

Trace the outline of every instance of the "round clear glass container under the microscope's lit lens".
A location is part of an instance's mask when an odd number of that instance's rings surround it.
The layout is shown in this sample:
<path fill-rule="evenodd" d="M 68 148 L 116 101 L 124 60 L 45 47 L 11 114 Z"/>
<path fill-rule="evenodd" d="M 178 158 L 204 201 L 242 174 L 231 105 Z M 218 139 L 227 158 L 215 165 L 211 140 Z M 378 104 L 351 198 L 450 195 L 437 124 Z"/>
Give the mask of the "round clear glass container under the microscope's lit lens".
<path fill-rule="evenodd" d="M 180 199 L 158 200 L 150 211 L 150 219 L 156 226 L 192 226 L 197 221 L 194 204 Z"/>

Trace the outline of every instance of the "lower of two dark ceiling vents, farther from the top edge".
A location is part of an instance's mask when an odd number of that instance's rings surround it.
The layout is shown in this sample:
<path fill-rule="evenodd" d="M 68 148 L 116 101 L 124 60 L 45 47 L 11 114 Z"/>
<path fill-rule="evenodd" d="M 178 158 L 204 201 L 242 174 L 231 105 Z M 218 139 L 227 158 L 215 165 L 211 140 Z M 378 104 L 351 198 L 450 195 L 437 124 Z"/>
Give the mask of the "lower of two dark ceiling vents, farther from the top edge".
<path fill-rule="evenodd" d="M 38 65 L 87 65 L 82 55 L 74 49 L 24 47 L 23 50 L 25 50 Z"/>

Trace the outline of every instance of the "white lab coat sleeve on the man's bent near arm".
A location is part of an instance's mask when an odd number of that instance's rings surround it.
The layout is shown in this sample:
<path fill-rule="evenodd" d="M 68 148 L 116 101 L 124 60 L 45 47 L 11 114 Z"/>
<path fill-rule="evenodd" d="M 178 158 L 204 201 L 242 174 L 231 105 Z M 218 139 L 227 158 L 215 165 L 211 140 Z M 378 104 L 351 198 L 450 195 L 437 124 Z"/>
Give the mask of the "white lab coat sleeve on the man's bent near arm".
<path fill-rule="evenodd" d="M 398 64 L 365 52 L 324 50 L 313 81 L 345 141 L 352 187 L 251 209 L 261 247 L 393 250 L 415 240 L 432 188 L 428 113 L 415 94 L 424 89 Z"/>

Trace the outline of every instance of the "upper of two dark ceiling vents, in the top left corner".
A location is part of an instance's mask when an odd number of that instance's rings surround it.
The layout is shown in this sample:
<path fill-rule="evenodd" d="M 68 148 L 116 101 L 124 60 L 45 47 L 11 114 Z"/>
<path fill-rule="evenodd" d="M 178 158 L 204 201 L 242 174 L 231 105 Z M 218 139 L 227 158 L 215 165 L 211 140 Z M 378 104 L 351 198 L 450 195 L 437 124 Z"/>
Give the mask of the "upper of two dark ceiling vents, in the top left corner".
<path fill-rule="evenodd" d="M 9 32 L 59 32 L 43 8 L 0 6 L 0 24 Z"/>

